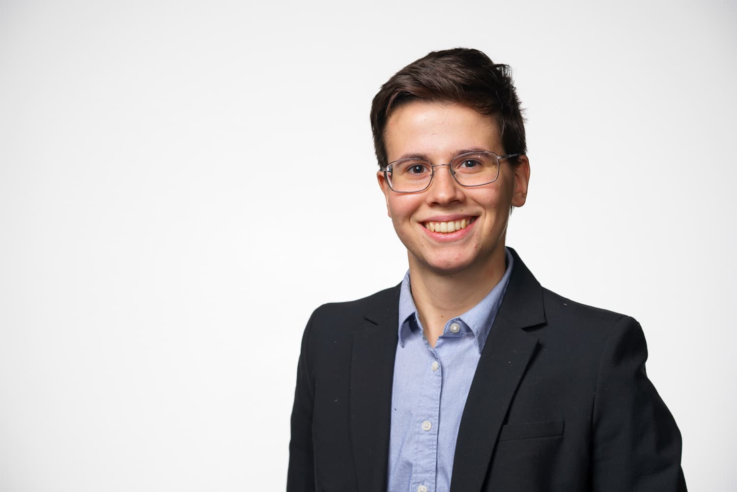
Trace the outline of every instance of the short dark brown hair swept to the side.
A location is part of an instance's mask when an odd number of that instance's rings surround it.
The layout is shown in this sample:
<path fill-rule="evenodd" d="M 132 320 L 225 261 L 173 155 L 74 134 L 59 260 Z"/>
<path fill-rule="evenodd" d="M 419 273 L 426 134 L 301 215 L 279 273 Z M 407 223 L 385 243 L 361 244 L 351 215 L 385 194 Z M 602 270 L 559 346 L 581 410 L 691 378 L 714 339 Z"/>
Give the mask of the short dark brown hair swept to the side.
<path fill-rule="evenodd" d="M 374 96 L 371 131 L 379 166 L 387 162 L 384 131 L 392 111 L 411 100 L 458 103 L 499 122 L 506 153 L 527 153 L 520 100 L 507 65 L 492 62 L 478 49 L 430 52 L 399 70 Z M 511 162 L 518 164 L 517 159 Z"/>

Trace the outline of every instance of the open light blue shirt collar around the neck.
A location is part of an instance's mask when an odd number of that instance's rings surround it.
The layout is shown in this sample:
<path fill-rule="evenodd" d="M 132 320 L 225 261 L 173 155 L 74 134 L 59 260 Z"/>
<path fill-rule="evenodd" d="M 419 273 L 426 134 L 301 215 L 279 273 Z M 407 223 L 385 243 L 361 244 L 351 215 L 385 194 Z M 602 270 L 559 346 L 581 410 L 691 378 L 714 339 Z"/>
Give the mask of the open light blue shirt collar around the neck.
<path fill-rule="evenodd" d="M 479 353 L 483 350 L 483 345 L 486 344 L 486 337 L 489 336 L 489 330 L 491 330 L 494 319 L 497 316 L 497 311 L 499 311 L 499 306 L 502 303 L 504 292 L 509 284 L 511 269 L 514 266 L 514 257 L 512 257 L 509 249 L 505 248 L 505 252 L 507 267 L 499 283 L 497 283 L 497 285 L 489 291 L 489 294 L 486 294 L 486 297 L 481 299 L 477 305 L 469 309 L 469 311 L 466 311 L 461 314 L 461 316 L 457 316 L 448 321 L 448 323 L 450 323 L 453 322 L 454 319 L 460 319 L 471 329 L 477 341 Z M 422 323 L 419 321 L 417 308 L 415 306 L 414 299 L 412 298 L 410 272 L 408 270 L 405 274 L 404 280 L 402 280 L 402 288 L 399 291 L 398 330 L 399 344 L 402 347 L 405 345 L 407 334 L 406 330 L 411 330 L 410 320 L 412 318 L 417 323 L 417 326 L 422 329 Z"/>

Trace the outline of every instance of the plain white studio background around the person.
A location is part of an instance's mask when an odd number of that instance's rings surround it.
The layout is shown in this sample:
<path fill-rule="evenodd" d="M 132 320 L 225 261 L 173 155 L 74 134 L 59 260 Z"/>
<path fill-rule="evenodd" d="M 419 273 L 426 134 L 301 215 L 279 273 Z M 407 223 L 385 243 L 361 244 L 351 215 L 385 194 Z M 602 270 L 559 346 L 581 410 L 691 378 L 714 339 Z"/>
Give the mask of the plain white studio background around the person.
<path fill-rule="evenodd" d="M 508 244 L 635 316 L 693 491 L 733 491 L 733 1 L 0 1 L 0 490 L 280 491 L 310 312 L 402 279 L 371 97 L 514 69 Z"/>

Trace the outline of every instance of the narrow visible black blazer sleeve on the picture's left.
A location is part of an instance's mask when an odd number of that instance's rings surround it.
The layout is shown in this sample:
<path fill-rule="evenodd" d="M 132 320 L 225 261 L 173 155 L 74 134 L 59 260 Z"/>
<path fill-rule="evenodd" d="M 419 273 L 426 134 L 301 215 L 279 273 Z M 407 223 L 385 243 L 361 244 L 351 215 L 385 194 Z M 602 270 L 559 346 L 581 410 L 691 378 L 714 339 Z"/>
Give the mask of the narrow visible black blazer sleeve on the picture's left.
<path fill-rule="evenodd" d="M 289 443 L 289 468 L 287 492 L 314 492 L 315 466 L 312 457 L 312 409 L 315 403 L 315 382 L 308 363 L 310 331 L 315 314 L 312 314 L 302 336 L 297 363 L 297 385 L 294 392 Z"/>

